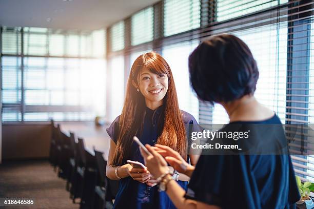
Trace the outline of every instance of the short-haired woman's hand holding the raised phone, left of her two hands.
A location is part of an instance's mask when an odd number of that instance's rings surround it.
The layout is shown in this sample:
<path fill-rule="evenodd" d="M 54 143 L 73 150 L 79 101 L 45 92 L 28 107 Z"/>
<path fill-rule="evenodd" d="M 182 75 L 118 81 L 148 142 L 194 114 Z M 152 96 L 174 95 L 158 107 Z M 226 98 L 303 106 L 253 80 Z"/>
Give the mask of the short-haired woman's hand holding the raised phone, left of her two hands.
<path fill-rule="evenodd" d="M 156 152 L 149 144 L 146 144 L 145 147 L 151 153 L 150 155 L 145 153 L 142 148 L 140 148 L 140 151 L 150 174 L 158 178 L 163 174 L 169 173 L 167 162 L 163 156 Z"/>

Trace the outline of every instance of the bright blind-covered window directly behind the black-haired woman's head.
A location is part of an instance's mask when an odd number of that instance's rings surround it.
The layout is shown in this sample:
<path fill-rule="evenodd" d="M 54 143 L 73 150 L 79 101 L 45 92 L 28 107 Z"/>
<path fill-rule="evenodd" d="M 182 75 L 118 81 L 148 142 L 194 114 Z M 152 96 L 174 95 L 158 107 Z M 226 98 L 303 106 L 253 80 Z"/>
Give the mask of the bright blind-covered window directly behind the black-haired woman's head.
<path fill-rule="evenodd" d="M 259 69 L 257 100 L 277 113 L 285 124 L 286 113 L 286 75 L 287 75 L 287 23 L 279 26 L 267 25 L 248 30 L 232 32 L 250 48 Z M 260 41 L 256 41 L 256 39 Z M 215 105 L 213 123 L 229 121 L 224 108 Z"/>

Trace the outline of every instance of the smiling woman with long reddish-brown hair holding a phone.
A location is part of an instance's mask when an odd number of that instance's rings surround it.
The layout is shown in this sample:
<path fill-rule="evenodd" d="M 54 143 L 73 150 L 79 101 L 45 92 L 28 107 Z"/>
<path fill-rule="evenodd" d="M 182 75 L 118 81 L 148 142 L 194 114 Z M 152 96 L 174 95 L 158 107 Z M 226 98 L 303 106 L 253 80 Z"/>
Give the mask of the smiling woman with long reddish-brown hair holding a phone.
<path fill-rule="evenodd" d="M 166 193 L 158 192 L 147 169 L 133 168 L 127 160 L 144 162 L 132 140 L 137 136 L 144 144 L 167 145 L 195 164 L 197 156 L 188 156 L 187 136 L 192 131 L 201 131 L 201 127 L 179 109 L 166 60 L 154 52 L 140 55 L 130 71 L 122 113 L 107 129 L 111 140 L 106 175 L 120 180 L 114 208 L 175 208 Z M 187 176 L 175 172 L 173 178 L 186 190 Z"/>

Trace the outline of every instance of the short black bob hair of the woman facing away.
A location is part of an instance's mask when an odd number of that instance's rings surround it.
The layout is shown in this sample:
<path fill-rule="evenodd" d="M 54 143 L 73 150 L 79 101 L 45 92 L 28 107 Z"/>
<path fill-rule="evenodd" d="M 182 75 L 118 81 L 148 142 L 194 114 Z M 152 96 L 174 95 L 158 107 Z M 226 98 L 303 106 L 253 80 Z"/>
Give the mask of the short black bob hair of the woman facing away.
<path fill-rule="evenodd" d="M 203 41 L 189 56 L 189 73 L 198 97 L 212 104 L 252 95 L 259 78 L 250 49 L 230 34 Z"/>

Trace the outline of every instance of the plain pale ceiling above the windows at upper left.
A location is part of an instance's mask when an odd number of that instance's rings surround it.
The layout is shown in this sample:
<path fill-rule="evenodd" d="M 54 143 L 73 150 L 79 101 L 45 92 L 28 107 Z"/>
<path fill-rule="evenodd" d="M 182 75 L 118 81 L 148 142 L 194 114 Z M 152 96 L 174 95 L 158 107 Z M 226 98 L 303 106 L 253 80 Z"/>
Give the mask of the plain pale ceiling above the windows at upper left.
<path fill-rule="evenodd" d="M 101 29 L 160 0 L 0 0 L 0 26 Z"/>

